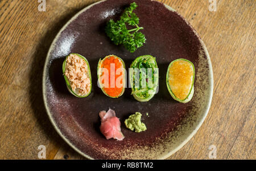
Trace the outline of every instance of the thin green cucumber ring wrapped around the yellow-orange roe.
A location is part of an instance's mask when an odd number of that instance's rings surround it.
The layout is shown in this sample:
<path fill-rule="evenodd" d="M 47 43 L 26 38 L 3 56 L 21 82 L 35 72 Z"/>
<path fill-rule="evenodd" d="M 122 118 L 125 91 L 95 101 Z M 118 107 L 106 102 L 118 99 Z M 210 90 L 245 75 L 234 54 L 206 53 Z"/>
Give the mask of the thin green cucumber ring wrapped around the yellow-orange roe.
<path fill-rule="evenodd" d="M 193 68 L 193 78 L 192 78 L 192 84 L 190 85 L 190 90 L 189 90 L 189 93 L 187 95 L 187 97 L 185 97 L 185 99 L 179 99 L 175 94 L 174 92 L 172 91 L 171 89 L 171 86 L 170 86 L 170 83 L 169 83 L 169 72 L 170 72 L 170 69 L 171 69 L 171 66 L 174 62 L 176 61 L 186 61 L 188 63 L 190 63 L 190 65 L 192 66 Z M 168 88 L 168 91 L 170 92 L 170 95 L 172 96 L 172 98 L 174 98 L 174 100 L 176 101 L 179 101 L 179 102 L 182 102 L 182 103 L 187 103 L 189 101 L 191 101 L 192 97 L 193 97 L 193 93 L 194 93 L 194 80 L 195 80 L 195 66 L 193 65 L 193 63 L 191 61 L 188 61 L 187 59 L 176 59 L 175 61 L 172 61 L 170 63 L 170 65 L 168 66 L 168 70 L 167 70 L 167 74 L 166 74 L 166 85 L 167 85 L 167 88 Z"/>

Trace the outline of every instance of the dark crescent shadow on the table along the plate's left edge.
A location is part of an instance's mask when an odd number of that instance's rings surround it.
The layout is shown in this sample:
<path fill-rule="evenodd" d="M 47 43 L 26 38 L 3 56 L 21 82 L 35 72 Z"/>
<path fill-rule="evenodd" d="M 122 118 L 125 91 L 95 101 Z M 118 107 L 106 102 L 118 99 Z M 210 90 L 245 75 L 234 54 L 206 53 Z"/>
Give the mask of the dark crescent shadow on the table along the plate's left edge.
<path fill-rule="evenodd" d="M 62 147 L 64 144 L 65 151 L 67 149 L 67 144 L 64 142 L 63 139 L 60 138 L 59 135 L 57 135 L 57 132 L 49 121 L 46 109 L 44 107 L 42 92 L 43 68 L 49 47 L 51 46 L 51 43 L 57 33 L 64 26 L 64 24 L 72 18 L 73 15 L 75 15 L 84 7 L 85 6 L 76 8 L 72 11 L 68 11 L 68 14 L 61 16 L 59 22 L 56 22 L 54 25 L 52 25 L 52 27 L 49 28 L 49 30 L 47 31 L 46 35 L 42 36 L 42 39 L 40 40 L 40 43 L 36 48 L 30 71 L 29 94 L 31 108 L 34 112 L 35 118 L 42 130 L 44 131 L 44 134 L 46 134 L 47 138 L 53 140 L 54 143 L 57 144 L 57 146 Z M 67 150 L 68 153 L 76 153 L 75 150 L 71 149 L 71 147 L 69 148 L 70 149 Z M 66 158 L 65 155 L 63 156 L 63 158 Z"/>

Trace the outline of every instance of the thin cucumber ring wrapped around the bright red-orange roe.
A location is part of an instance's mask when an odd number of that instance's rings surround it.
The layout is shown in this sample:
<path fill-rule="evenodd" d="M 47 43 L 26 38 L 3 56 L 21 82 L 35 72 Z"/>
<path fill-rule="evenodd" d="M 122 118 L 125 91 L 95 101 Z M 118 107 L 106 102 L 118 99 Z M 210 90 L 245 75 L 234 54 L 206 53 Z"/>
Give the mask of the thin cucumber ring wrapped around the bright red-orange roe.
<path fill-rule="evenodd" d="M 105 58 L 103 58 L 102 60 L 100 59 L 100 60 L 98 61 L 98 66 L 97 66 L 98 85 L 100 86 L 102 92 L 103 92 L 106 96 L 115 99 L 115 98 L 118 98 L 118 97 L 122 96 L 123 93 L 125 92 L 126 78 L 125 78 L 125 74 L 123 74 L 123 80 L 122 80 L 122 82 L 123 82 L 123 89 L 122 89 L 122 92 L 121 92 L 118 96 L 110 96 L 110 95 L 108 95 L 108 93 L 106 93 L 106 92 L 104 91 L 104 85 L 100 82 L 100 76 L 101 76 L 101 72 L 102 72 L 102 71 L 101 71 L 101 64 L 102 64 L 102 62 L 103 62 L 106 58 L 108 58 L 108 57 L 115 57 L 115 58 L 118 58 L 118 59 L 122 62 L 122 65 L 123 65 L 123 69 L 124 69 L 124 70 L 125 70 L 125 62 L 123 62 L 123 59 L 117 57 L 116 55 L 108 55 L 108 56 L 106 56 Z"/>

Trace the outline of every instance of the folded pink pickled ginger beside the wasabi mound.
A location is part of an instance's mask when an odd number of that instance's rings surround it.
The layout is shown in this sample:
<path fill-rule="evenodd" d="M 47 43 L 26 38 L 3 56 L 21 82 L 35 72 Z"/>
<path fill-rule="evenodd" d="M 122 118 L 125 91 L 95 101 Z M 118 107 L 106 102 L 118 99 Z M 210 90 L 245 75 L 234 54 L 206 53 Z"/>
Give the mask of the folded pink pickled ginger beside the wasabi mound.
<path fill-rule="evenodd" d="M 100 131 L 106 139 L 123 140 L 125 138 L 121 132 L 121 122 L 115 116 L 114 110 L 109 109 L 108 112 L 103 110 L 99 113 L 99 116 L 101 118 Z"/>

